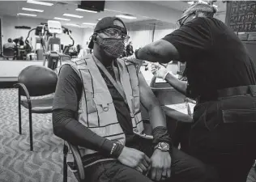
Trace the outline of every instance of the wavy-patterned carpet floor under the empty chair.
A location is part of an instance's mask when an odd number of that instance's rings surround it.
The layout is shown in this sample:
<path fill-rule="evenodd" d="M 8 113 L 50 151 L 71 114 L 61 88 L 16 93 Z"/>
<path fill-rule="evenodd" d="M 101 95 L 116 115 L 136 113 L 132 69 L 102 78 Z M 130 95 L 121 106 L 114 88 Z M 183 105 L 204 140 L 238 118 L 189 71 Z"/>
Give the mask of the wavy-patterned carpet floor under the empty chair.
<path fill-rule="evenodd" d="M 0 182 L 61 182 L 63 141 L 53 135 L 51 114 L 32 114 L 34 151 L 29 150 L 28 110 L 18 127 L 18 92 L 0 89 Z M 68 172 L 69 182 L 75 182 Z M 229 182 L 229 181 L 227 181 Z M 231 181 L 230 181 L 231 182 Z M 255 170 L 247 182 L 256 182 Z"/>

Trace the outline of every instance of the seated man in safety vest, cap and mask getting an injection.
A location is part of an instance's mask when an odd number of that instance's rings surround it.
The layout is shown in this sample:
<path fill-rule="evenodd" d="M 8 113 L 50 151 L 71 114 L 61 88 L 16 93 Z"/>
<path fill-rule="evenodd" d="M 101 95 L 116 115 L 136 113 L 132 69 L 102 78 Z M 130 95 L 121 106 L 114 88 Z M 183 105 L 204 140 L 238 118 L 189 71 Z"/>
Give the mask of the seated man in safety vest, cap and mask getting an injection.
<path fill-rule="evenodd" d="M 80 146 L 87 181 L 215 182 L 215 171 L 172 147 L 164 112 L 124 49 L 121 19 L 97 24 L 93 53 L 61 67 L 53 101 L 53 132 Z M 140 103 L 152 135 L 143 133 Z"/>

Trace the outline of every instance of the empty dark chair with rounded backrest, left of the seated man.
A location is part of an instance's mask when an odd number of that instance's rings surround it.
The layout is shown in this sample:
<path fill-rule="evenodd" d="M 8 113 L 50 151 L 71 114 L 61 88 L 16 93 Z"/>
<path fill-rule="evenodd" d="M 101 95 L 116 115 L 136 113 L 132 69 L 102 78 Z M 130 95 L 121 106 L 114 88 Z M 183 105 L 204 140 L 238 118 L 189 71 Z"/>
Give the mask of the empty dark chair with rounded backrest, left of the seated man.
<path fill-rule="evenodd" d="M 31 99 L 49 95 L 55 92 L 58 81 L 57 74 L 45 66 L 28 66 L 19 73 L 18 83 L 14 87 L 19 88 L 19 134 L 21 134 L 21 105 L 29 112 L 29 137 L 30 150 L 33 150 L 32 137 L 32 113 L 51 113 L 53 108 L 53 96 L 41 99 Z M 26 96 L 26 99 L 21 99 Z"/>

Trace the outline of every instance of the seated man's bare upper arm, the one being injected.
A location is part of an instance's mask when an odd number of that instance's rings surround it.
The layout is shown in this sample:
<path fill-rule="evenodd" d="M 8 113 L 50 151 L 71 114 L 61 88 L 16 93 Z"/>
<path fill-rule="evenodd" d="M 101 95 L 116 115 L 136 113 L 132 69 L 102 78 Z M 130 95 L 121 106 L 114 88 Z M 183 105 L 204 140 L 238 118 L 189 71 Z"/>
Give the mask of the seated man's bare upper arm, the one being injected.
<path fill-rule="evenodd" d="M 138 78 L 141 104 L 143 104 L 143 106 L 147 110 L 150 110 L 155 106 L 160 106 L 158 99 L 156 99 L 156 96 L 154 95 L 153 91 L 151 91 L 151 88 L 147 85 L 147 82 L 143 77 L 143 74 L 139 72 Z"/>

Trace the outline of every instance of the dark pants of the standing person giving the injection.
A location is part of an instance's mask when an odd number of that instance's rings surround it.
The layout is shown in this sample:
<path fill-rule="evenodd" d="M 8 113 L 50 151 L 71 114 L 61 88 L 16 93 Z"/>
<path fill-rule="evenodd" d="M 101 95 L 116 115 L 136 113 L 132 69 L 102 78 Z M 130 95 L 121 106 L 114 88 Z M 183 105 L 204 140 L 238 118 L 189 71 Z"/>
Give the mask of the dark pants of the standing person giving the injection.
<path fill-rule="evenodd" d="M 198 104 L 190 154 L 214 166 L 221 182 L 245 182 L 256 159 L 256 97 L 237 95 Z"/>

